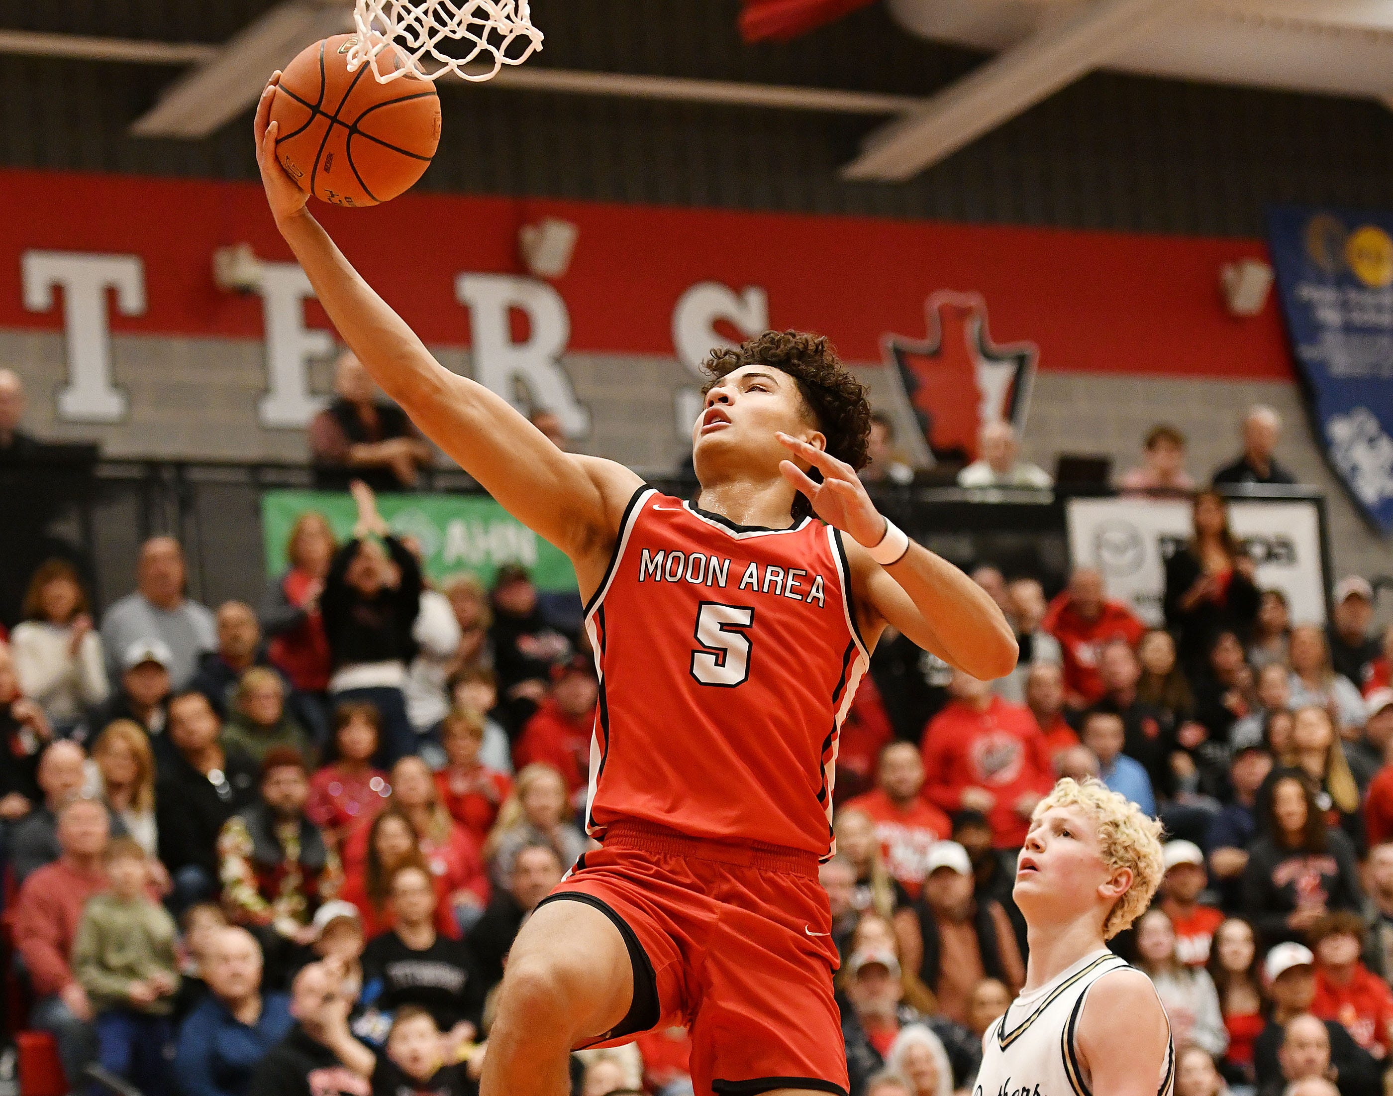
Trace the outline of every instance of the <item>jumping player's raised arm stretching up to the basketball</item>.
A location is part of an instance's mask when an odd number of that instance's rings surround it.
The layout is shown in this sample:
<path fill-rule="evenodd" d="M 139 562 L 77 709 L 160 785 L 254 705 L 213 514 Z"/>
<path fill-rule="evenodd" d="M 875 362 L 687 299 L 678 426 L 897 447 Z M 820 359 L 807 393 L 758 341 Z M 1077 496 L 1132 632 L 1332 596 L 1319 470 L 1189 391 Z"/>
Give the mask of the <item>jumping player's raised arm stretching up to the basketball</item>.
<path fill-rule="evenodd" d="M 639 478 L 613 462 L 563 453 L 483 385 L 432 357 L 311 216 L 308 195 L 276 159 L 270 121 L 276 73 L 256 107 L 256 162 L 276 227 L 309 276 L 344 342 L 422 432 L 514 517 L 571 556 L 582 588 L 588 562 L 609 558 L 620 515 Z"/>

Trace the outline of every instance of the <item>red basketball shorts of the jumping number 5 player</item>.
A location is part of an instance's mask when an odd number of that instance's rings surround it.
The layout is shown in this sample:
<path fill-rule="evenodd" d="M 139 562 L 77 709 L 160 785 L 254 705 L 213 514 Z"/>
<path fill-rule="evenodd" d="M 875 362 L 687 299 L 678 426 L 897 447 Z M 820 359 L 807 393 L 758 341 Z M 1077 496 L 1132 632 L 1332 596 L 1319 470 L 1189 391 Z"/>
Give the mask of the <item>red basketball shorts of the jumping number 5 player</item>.
<path fill-rule="evenodd" d="M 545 901 L 600 909 L 628 945 L 634 1004 L 600 1042 L 687 1025 L 698 1096 L 846 1096 L 837 950 L 812 853 L 617 823 Z"/>

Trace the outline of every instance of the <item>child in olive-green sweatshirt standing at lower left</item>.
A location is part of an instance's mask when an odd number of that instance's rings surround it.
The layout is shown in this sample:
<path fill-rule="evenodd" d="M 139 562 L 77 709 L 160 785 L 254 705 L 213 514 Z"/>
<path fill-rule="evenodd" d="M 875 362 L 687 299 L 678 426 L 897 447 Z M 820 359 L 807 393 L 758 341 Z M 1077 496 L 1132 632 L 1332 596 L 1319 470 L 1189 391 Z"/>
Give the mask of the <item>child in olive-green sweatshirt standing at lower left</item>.
<path fill-rule="evenodd" d="M 88 899 L 72 971 L 96 1010 L 98 1061 L 143 1096 L 171 1090 L 167 1050 L 178 990 L 174 919 L 145 890 L 149 866 L 132 838 L 107 845 L 110 892 Z"/>

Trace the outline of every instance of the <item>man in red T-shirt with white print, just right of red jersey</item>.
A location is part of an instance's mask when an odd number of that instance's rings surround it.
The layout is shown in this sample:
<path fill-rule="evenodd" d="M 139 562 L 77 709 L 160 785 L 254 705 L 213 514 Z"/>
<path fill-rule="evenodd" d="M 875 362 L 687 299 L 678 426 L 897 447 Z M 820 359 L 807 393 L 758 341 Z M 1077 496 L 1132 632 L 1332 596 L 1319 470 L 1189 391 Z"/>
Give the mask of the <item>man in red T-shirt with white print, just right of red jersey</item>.
<path fill-rule="evenodd" d="M 912 742 L 892 742 L 880 753 L 880 786 L 850 800 L 875 823 L 886 869 L 917 898 L 933 845 L 953 832 L 949 816 L 921 798 L 924 761 Z"/>

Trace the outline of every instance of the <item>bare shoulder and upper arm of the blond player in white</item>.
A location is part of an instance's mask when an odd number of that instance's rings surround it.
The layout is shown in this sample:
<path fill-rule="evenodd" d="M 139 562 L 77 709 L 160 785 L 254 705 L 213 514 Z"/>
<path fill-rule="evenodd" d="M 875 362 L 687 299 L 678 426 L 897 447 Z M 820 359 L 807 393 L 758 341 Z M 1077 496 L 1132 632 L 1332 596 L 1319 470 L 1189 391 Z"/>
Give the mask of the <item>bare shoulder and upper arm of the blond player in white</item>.
<path fill-rule="evenodd" d="M 1107 1096 L 1170 1096 L 1174 1063 L 1170 1025 L 1141 971 L 1114 971 L 1088 991 L 1075 1035 L 1078 1053 L 1091 1075 L 1089 1089 Z M 1162 1085 L 1162 1070 L 1170 1078 Z"/>

